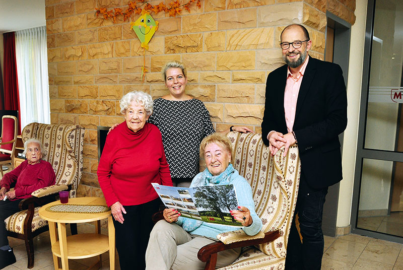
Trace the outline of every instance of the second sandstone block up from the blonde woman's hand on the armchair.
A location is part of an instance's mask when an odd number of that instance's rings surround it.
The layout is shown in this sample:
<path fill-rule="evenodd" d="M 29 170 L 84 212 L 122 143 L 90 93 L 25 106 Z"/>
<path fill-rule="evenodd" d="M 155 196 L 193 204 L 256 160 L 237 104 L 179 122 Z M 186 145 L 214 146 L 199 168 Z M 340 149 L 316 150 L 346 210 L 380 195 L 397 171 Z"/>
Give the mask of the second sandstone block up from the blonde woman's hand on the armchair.
<path fill-rule="evenodd" d="M 218 84 L 217 102 L 253 103 L 255 101 L 254 84 Z"/>

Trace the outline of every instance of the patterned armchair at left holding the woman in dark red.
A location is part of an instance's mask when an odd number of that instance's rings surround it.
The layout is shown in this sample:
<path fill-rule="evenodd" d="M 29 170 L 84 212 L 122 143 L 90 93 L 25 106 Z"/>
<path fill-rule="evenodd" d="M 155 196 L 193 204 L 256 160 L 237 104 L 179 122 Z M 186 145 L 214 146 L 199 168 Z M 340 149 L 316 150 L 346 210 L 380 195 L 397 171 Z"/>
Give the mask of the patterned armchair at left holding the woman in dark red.
<path fill-rule="evenodd" d="M 30 123 L 22 131 L 22 141 L 36 138 L 42 142 L 44 160 L 53 166 L 56 184 L 32 192 L 32 197 L 21 201 L 22 211 L 5 220 L 8 235 L 24 239 L 28 254 L 28 268 L 34 265 L 32 238 L 48 230 L 47 221 L 38 215 L 40 206 L 54 201 L 60 190 L 69 190 L 76 197 L 83 171 L 84 130 L 80 125 Z"/>

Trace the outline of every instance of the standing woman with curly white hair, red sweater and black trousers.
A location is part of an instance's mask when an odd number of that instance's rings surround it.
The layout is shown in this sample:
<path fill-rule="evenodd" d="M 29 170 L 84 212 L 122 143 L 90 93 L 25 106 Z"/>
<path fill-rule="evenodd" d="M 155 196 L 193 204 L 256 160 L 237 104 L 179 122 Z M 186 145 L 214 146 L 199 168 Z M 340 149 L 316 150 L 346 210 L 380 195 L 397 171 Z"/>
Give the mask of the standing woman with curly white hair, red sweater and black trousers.
<path fill-rule="evenodd" d="M 172 186 L 161 132 L 147 119 L 153 112 L 149 94 L 130 92 L 120 100 L 125 121 L 106 137 L 98 181 L 111 207 L 120 268 L 144 269 L 153 228 L 151 216 L 160 200 L 151 183 Z"/>

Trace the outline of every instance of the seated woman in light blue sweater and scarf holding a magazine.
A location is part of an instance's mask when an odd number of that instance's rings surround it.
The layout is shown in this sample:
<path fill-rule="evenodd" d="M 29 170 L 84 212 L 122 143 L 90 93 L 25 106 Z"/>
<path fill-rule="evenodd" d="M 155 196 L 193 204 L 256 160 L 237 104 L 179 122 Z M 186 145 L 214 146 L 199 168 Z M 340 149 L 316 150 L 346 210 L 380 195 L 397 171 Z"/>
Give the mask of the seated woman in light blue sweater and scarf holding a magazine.
<path fill-rule="evenodd" d="M 240 228 L 246 234 L 257 234 L 262 222 L 254 210 L 250 185 L 230 164 L 229 140 L 218 133 L 211 134 L 201 141 L 200 155 L 204 155 L 207 169 L 193 178 L 190 187 L 233 184 L 239 206 L 231 215 L 242 223 Z M 218 241 L 218 234 L 239 228 L 180 217 L 180 213 L 172 209 L 165 209 L 163 216 L 164 220 L 154 226 L 150 235 L 146 269 L 204 269 L 206 263 L 197 258 L 199 248 Z M 236 248 L 219 252 L 217 266 L 232 263 L 240 251 L 241 248 Z"/>

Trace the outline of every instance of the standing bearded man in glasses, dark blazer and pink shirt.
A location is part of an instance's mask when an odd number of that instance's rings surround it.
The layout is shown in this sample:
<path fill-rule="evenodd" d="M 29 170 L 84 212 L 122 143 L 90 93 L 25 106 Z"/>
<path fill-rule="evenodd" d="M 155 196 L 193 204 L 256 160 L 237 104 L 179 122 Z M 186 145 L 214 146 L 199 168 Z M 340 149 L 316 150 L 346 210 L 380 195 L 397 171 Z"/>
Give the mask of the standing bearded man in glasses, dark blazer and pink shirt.
<path fill-rule="evenodd" d="M 267 77 L 263 142 L 274 155 L 298 144 L 301 178 L 295 226 L 289 235 L 286 269 L 320 269 L 323 254 L 322 214 L 328 186 L 342 180 L 339 134 L 347 125 L 347 93 L 339 65 L 308 56 L 309 33 L 287 26 L 280 46 L 287 63 Z"/>

